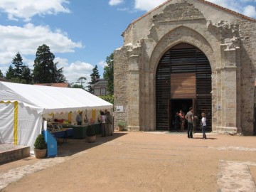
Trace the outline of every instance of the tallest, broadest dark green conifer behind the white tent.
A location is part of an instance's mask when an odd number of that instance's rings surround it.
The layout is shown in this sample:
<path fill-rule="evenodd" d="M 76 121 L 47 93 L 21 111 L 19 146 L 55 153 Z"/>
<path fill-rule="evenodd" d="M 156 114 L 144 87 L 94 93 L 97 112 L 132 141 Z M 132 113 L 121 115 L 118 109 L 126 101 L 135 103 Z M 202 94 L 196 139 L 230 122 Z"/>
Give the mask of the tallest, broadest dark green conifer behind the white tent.
<path fill-rule="evenodd" d="M 50 48 L 43 44 L 36 51 L 34 61 L 33 81 L 35 83 L 65 82 L 63 68 L 58 69 L 54 63 L 55 56 L 50 52 Z"/>

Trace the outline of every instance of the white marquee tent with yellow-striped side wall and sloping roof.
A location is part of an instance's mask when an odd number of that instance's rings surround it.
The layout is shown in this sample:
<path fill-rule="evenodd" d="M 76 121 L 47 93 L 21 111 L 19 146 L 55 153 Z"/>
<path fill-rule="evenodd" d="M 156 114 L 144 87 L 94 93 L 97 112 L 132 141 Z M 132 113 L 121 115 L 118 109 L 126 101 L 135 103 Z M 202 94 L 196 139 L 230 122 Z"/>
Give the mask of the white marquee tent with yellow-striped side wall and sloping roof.
<path fill-rule="evenodd" d="M 33 151 L 43 114 L 112 107 L 82 89 L 0 82 L 0 144 L 30 146 Z"/>

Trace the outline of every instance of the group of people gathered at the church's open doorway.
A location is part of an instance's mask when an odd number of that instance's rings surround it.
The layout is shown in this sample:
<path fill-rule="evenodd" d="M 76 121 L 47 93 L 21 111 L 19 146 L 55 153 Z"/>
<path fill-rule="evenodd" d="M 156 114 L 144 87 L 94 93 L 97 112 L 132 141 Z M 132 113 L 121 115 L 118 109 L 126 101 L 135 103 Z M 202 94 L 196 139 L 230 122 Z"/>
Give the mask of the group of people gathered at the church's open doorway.
<path fill-rule="evenodd" d="M 203 139 L 206 139 L 206 114 L 201 114 L 201 128 L 203 132 Z M 196 120 L 198 119 L 197 116 L 193 115 L 193 108 L 190 107 L 189 111 L 184 114 L 183 110 L 180 110 L 179 112 L 176 112 L 175 118 L 174 118 L 174 127 L 176 129 L 176 132 L 184 131 L 185 126 L 185 120 L 187 120 L 187 132 L 188 132 L 188 138 L 193 138 L 193 133 L 196 133 Z"/>

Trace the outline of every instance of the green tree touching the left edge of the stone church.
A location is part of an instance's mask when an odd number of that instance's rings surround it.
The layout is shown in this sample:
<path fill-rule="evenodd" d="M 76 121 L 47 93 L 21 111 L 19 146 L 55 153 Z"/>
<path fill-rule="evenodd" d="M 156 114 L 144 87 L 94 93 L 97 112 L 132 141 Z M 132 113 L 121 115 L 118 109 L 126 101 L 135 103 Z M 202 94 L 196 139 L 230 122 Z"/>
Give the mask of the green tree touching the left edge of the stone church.
<path fill-rule="evenodd" d="M 107 91 L 114 94 L 114 53 L 107 57 L 107 65 L 104 67 L 103 78 L 107 80 Z"/>

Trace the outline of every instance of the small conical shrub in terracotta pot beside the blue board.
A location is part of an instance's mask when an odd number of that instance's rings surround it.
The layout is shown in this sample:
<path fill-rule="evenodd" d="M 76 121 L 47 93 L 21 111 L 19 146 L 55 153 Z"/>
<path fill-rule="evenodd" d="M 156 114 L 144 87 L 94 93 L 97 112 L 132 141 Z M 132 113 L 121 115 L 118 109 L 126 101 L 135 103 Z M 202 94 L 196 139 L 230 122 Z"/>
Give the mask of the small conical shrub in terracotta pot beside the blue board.
<path fill-rule="evenodd" d="M 46 156 L 46 139 L 43 137 L 43 134 L 38 134 L 36 141 L 34 143 L 34 152 L 37 159 L 42 159 Z"/>

